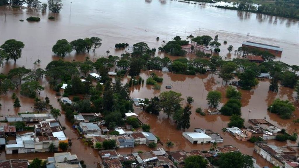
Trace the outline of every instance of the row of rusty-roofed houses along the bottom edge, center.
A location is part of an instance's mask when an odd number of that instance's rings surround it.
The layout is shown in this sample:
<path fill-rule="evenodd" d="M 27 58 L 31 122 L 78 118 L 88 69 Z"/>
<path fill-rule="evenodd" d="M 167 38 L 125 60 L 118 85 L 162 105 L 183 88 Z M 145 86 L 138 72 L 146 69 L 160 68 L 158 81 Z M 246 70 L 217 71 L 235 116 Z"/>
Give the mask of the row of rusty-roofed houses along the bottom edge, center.
<path fill-rule="evenodd" d="M 132 152 L 130 155 L 120 155 L 115 150 L 102 150 L 99 152 L 100 159 L 98 161 L 101 168 L 123 168 L 126 167 L 144 167 L 144 168 L 183 168 L 184 160 L 190 156 L 199 155 L 205 158 L 208 162 L 207 167 L 212 168 L 213 165 L 209 162 L 209 157 L 217 157 L 219 153 L 237 152 L 234 146 L 219 147 L 214 151 L 192 150 L 186 152 L 165 151 L 163 148 L 149 152 Z"/>

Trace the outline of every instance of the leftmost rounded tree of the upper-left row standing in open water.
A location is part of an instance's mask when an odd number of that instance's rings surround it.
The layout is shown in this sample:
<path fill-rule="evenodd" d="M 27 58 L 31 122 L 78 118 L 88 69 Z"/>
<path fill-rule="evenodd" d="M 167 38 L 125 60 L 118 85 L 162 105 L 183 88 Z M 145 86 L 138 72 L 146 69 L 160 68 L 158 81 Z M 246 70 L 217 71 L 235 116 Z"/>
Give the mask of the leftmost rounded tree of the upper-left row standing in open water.
<path fill-rule="evenodd" d="M 52 47 L 52 51 L 58 56 L 70 54 L 72 50 L 71 44 L 66 39 L 57 40 L 56 44 Z"/>

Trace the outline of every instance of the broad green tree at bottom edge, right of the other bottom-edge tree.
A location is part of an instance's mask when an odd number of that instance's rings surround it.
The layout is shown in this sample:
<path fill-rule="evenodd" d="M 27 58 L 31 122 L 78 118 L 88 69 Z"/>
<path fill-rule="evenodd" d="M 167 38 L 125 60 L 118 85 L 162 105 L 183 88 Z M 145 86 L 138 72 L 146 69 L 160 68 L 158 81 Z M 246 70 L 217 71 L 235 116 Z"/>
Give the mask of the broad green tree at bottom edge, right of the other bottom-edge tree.
<path fill-rule="evenodd" d="M 219 155 L 219 168 L 254 168 L 251 156 L 241 152 L 227 152 Z"/>

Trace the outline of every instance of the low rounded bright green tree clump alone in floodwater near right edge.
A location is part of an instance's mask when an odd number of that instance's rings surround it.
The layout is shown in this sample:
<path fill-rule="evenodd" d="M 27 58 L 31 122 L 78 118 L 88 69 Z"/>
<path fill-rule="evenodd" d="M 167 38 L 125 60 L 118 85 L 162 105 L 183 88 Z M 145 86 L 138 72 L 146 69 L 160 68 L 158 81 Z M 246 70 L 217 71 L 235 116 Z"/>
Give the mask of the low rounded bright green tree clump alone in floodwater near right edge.
<path fill-rule="evenodd" d="M 271 113 L 280 115 L 283 119 L 289 119 L 295 111 L 295 107 L 289 100 L 276 99 L 268 107 L 268 110 Z"/>

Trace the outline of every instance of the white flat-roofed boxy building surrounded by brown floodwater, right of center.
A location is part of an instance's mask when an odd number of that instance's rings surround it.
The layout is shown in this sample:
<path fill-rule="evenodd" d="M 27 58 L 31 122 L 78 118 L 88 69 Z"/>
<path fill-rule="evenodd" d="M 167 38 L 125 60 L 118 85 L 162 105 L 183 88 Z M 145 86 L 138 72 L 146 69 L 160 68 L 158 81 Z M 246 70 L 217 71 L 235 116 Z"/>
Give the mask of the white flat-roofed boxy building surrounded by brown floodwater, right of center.
<path fill-rule="evenodd" d="M 209 135 L 200 132 L 183 132 L 183 137 L 193 144 L 210 143 L 212 141 Z"/>

